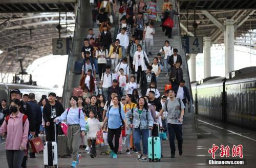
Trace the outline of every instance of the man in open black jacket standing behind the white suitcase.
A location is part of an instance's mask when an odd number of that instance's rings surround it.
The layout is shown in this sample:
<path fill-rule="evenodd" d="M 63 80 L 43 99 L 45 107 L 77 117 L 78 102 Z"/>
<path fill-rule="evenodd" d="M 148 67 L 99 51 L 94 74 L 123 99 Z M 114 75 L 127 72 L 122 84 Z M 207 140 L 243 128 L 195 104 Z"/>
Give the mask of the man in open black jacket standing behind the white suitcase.
<path fill-rule="evenodd" d="M 64 108 L 62 104 L 56 101 L 56 94 L 51 92 L 48 95 L 49 103 L 47 103 L 44 106 L 44 109 L 42 111 L 42 116 L 45 120 L 45 128 L 46 128 L 46 141 L 55 141 L 55 133 L 54 133 L 54 122 L 53 120 L 56 117 L 59 117 L 63 112 Z M 58 135 L 58 132 L 60 129 L 57 129 L 56 133 Z M 57 139 L 56 139 L 57 141 Z"/>

